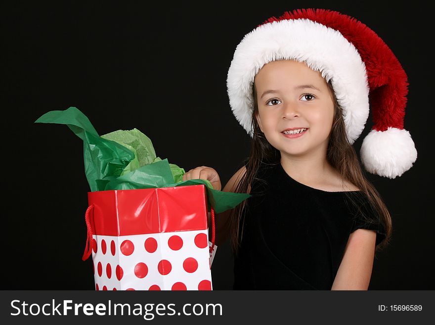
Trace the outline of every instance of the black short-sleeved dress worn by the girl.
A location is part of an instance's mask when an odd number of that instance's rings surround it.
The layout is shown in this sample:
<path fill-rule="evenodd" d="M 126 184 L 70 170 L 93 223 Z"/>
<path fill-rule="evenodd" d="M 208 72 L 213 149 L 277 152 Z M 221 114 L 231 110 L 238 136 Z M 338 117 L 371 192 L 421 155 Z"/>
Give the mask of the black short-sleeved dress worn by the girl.
<path fill-rule="evenodd" d="M 385 238 L 362 192 L 348 192 L 359 199 L 355 209 L 345 192 L 305 186 L 280 163 L 261 164 L 250 193 L 234 258 L 234 290 L 330 290 L 351 232 L 376 230 L 376 244 Z"/>

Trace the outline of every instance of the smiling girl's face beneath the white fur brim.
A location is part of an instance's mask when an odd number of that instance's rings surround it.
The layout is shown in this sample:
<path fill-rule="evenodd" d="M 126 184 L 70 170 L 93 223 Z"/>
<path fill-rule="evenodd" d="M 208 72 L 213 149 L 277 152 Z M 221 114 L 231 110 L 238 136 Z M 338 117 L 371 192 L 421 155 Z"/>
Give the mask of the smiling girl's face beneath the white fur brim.
<path fill-rule="evenodd" d="M 334 118 L 333 94 L 320 72 L 305 63 L 278 60 L 265 64 L 255 77 L 261 132 L 281 156 L 326 153 Z M 284 135 L 287 129 L 307 130 Z M 322 154 L 325 154 L 322 152 Z"/>

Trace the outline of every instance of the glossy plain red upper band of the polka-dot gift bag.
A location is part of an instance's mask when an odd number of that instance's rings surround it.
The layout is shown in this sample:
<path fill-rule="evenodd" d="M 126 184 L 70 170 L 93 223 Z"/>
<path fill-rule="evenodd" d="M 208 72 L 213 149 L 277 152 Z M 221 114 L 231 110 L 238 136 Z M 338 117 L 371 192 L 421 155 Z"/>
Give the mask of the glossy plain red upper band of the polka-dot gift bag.
<path fill-rule="evenodd" d="M 207 229 L 204 185 L 88 192 L 93 234 L 123 236 Z"/>

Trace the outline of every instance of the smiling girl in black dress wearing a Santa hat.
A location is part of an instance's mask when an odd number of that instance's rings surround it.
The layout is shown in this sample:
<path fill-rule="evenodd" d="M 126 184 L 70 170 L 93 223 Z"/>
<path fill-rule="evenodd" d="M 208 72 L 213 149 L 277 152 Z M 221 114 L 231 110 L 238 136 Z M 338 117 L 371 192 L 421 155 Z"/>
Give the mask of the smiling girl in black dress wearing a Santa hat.
<path fill-rule="evenodd" d="M 216 217 L 216 243 L 230 235 L 234 289 L 353 289 L 369 286 L 375 249 L 392 221 L 366 180 L 389 178 L 417 152 L 403 129 L 407 77 L 367 26 L 325 9 L 269 18 L 245 35 L 228 71 L 232 111 L 252 137 L 251 154 L 223 188 L 250 193 Z M 183 180 L 207 179 L 201 166 Z"/>

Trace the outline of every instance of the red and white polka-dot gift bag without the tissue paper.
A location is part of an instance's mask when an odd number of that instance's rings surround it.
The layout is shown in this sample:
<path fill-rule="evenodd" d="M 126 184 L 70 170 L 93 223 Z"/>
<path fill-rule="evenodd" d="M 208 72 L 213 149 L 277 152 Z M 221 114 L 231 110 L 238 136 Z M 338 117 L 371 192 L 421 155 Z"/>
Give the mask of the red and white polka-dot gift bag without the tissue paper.
<path fill-rule="evenodd" d="M 212 290 L 204 185 L 88 192 L 96 290 Z"/>

